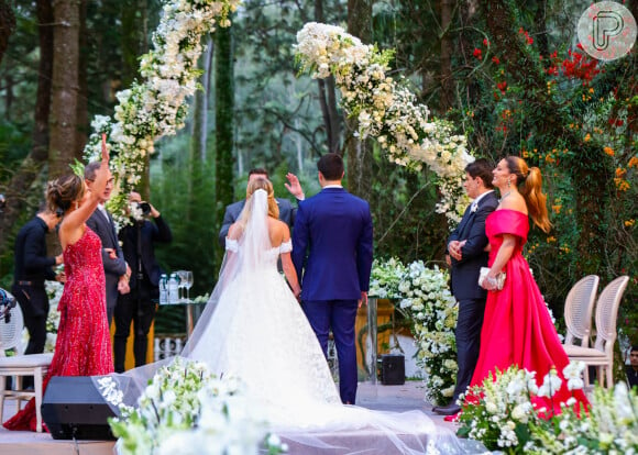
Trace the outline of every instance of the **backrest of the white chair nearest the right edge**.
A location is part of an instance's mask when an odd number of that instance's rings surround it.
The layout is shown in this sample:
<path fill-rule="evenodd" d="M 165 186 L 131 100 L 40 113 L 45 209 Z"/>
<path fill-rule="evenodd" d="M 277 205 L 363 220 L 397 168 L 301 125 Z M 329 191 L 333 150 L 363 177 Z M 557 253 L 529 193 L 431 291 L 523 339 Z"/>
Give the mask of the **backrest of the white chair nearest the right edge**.
<path fill-rule="evenodd" d="M 616 278 L 605 286 L 596 303 L 596 343 L 594 347 L 603 351 L 609 358 L 614 356 L 614 343 L 618 336 L 616 333 L 618 307 L 628 282 L 629 277 L 626 275 Z"/>

